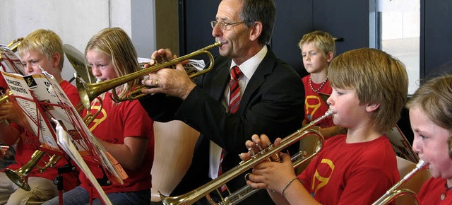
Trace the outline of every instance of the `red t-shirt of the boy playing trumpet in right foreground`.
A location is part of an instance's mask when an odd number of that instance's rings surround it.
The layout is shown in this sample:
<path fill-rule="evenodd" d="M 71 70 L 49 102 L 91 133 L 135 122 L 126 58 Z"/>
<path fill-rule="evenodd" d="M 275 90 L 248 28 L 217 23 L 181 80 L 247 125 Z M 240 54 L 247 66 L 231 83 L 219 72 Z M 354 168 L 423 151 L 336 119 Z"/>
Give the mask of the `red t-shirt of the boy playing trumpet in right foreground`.
<path fill-rule="evenodd" d="M 400 178 L 396 153 L 386 136 L 354 144 L 346 136 L 325 141 L 299 180 L 321 204 L 372 204 Z"/>

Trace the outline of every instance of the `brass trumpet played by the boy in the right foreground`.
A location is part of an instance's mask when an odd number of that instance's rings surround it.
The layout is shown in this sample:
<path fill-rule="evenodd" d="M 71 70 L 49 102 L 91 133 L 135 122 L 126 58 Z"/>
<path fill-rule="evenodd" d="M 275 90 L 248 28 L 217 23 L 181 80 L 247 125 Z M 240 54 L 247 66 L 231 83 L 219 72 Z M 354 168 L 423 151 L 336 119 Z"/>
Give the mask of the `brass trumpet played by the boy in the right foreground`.
<path fill-rule="evenodd" d="M 292 161 L 294 167 L 297 167 L 304 163 L 305 161 L 313 158 L 316 156 L 317 153 L 321 150 L 323 146 L 323 136 L 320 134 L 319 131 L 315 131 L 313 129 L 310 129 L 315 124 L 320 122 L 322 119 L 325 119 L 326 117 L 329 117 L 333 115 L 333 111 L 328 110 L 322 117 L 319 117 L 312 121 L 311 123 L 307 124 L 305 127 L 302 127 L 301 129 L 298 129 L 294 133 L 290 134 L 289 136 L 286 136 L 280 143 L 279 146 L 273 147 L 272 145 L 268 146 L 267 148 L 263 149 L 263 151 L 259 151 L 254 155 L 250 160 L 242 161 L 239 165 L 232 168 L 231 170 L 223 173 L 222 175 L 215 178 L 215 180 L 212 180 L 208 182 L 207 184 L 198 187 L 198 189 L 194 189 L 191 192 L 188 192 L 186 194 L 182 194 L 177 197 L 166 197 L 160 194 L 160 198 L 162 199 L 163 204 L 194 204 L 196 201 L 203 197 L 207 197 L 210 204 L 237 204 L 239 201 L 242 201 L 243 199 L 246 199 L 246 197 L 251 196 L 251 194 L 254 194 L 254 192 L 257 192 L 257 189 L 253 189 L 249 187 L 248 185 L 242 187 L 241 189 L 237 190 L 236 192 L 230 194 L 230 196 L 225 197 L 220 202 L 213 201 L 209 194 L 210 192 L 213 192 L 214 190 L 218 189 L 222 185 L 225 185 L 226 182 L 229 182 L 230 180 L 234 179 L 235 177 L 241 175 L 242 173 L 246 172 L 246 170 L 249 170 L 253 168 L 258 163 L 261 163 L 265 160 L 272 160 L 274 158 L 279 159 L 278 153 L 280 151 L 283 151 L 283 149 L 287 148 L 288 146 L 294 144 L 295 142 L 303 139 L 305 136 L 314 135 L 317 136 L 319 139 L 319 143 L 316 146 L 316 150 L 314 153 L 311 153 L 310 156 L 306 156 L 304 158 L 299 158 L 295 161 Z M 221 194 L 220 194 L 221 195 Z"/>

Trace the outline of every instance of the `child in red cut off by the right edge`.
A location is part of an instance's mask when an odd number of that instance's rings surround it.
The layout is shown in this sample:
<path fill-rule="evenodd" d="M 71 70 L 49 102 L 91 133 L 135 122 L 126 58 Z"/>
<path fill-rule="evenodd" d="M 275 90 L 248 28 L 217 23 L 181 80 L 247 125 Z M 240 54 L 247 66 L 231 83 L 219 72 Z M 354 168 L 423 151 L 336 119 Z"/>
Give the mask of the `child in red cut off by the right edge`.
<path fill-rule="evenodd" d="M 420 204 L 452 204 L 452 76 L 422 83 L 407 106 L 415 138 L 412 149 L 432 178 L 419 192 Z"/>

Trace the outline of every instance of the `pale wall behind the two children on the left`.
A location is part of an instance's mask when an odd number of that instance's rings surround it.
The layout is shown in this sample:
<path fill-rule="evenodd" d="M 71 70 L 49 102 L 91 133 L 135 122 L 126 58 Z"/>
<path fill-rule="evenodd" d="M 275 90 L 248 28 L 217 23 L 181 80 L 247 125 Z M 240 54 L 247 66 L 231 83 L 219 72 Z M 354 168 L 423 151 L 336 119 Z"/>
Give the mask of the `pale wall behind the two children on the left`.
<path fill-rule="evenodd" d="M 44 28 L 57 33 L 64 44 L 83 52 L 90 37 L 99 30 L 121 27 L 131 37 L 138 57 L 149 57 L 155 50 L 154 0 L 2 0 L 1 3 L 0 44 Z M 65 59 L 64 78 L 69 80 L 73 73 Z"/>

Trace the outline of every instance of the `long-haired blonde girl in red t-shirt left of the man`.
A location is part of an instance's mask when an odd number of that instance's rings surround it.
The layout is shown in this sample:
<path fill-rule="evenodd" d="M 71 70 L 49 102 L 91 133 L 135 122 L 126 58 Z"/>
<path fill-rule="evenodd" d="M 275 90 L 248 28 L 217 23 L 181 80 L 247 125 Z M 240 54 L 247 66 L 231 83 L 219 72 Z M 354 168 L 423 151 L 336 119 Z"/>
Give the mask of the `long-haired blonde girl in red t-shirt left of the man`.
<path fill-rule="evenodd" d="M 138 57 L 130 37 L 121 28 L 105 28 L 91 37 L 85 57 L 93 76 L 108 81 L 138 71 Z M 88 69 L 88 68 L 87 68 Z M 150 204 L 151 175 L 154 159 L 153 120 L 148 117 L 138 100 L 114 102 L 112 92 L 119 97 L 138 86 L 138 79 L 124 83 L 99 97 L 102 111 L 89 128 L 104 148 L 118 161 L 129 176 L 123 184 L 101 184 L 112 204 Z M 91 112 L 97 112 L 99 100 L 90 103 Z M 102 168 L 88 164 L 97 179 L 105 177 Z M 99 204 L 99 194 L 90 185 L 83 172 L 81 185 L 63 194 L 65 204 Z M 93 195 L 91 194 L 93 189 Z M 93 201 L 90 201 L 93 197 Z M 58 198 L 46 204 L 58 204 Z"/>

